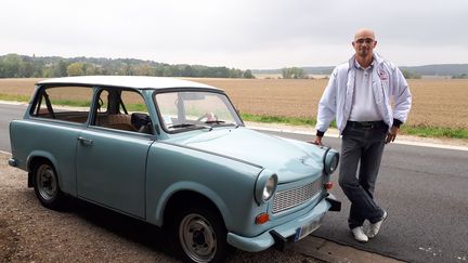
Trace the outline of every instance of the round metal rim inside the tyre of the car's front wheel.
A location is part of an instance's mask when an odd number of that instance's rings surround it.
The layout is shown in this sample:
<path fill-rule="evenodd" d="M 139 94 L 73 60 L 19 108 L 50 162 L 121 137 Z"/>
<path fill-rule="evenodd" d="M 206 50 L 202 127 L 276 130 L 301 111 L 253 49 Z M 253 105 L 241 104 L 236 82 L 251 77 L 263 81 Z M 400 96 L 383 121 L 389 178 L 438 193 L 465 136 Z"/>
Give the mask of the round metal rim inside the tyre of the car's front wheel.
<path fill-rule="evenodd" d="M 209 262 L 217 251 L 211 224 L 202 215 L 185 215 L 179 226 L 179 239 L 185 253 L 195 262 Z"/>

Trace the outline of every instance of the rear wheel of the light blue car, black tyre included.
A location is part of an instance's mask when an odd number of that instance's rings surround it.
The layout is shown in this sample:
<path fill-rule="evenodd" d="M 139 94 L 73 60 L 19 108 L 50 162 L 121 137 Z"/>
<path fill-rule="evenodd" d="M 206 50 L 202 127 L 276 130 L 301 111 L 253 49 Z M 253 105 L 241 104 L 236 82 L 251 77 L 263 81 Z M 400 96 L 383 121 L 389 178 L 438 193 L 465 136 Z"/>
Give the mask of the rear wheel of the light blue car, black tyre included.
<path fill-rule="evenodd" d="M 42 206 L 60 210 L 65 196 L 60 188 L 55 169 L 49 161 L 41 161 L 32 167 L 32 185 Z"/>

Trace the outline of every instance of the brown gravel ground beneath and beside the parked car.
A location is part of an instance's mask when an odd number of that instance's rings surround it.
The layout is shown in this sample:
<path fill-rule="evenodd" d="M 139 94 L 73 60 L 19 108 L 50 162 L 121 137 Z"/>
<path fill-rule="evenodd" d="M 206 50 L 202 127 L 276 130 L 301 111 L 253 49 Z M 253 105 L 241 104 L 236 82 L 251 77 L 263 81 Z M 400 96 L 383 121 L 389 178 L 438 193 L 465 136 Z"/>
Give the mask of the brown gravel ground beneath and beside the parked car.
<path fill-rule="evenodd" d="M 9 158 L 0 153 L 0 262 L 178 262 L 153 225 L 76 199 L 65 211 L 43 208 Z M 269 249 L 233 250 L 227 262 L 318 261 Z"/>

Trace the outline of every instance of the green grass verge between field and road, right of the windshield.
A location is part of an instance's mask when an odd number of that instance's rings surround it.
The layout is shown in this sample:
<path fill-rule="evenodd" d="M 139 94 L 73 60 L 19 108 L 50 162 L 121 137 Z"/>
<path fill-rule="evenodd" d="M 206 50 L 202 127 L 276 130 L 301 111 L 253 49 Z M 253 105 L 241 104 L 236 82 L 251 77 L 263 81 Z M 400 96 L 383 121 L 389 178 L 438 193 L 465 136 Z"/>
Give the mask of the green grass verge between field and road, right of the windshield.
<path fill-rule="evenodd" d="M 291 126 L 309 126 L 315 128 L 316 120 L 314 118 L 289 118 L 278 116 L 259 116 L 252 114 L 242 114 L 243 120 L 263 122 L 263 123 L 283 123 Z M 336 123 L 332 123 L 336 128 Z M 465 128 L 441 128 L 441 127 L 412 127 L 402 126 L 402 134 L 415 135 L 421 137 L 448 137 L 468 140 L 468 129 Z"/>

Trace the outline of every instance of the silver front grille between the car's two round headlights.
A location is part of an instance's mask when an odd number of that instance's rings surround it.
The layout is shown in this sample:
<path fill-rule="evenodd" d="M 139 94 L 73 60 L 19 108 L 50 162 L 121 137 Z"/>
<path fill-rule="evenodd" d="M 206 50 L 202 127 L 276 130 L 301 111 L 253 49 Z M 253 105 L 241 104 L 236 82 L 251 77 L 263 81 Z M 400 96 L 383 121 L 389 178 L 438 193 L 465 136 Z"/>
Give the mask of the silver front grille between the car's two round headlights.
<path fill-rule="evenodd" d="M 277 192 L 273 200 L 273 213 L 297 207 L 312 199 L 322 189 L 322 179 L 296 188 Z"/>

